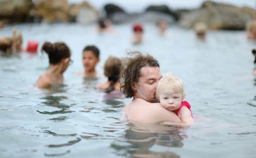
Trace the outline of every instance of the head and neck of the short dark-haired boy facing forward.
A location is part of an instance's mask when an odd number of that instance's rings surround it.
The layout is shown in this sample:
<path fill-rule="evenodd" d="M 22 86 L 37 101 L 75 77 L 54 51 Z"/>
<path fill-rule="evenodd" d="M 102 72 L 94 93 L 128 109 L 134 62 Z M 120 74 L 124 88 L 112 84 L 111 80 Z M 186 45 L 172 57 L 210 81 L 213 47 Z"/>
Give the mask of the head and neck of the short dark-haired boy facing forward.
<path fill-rule="evenodd" d="M 95 70 L 95 66 L 100 61 L 99 54 L 100 51 L 95 46 L 86 46 L 83 49 L 83 65 L 85 68 L 83 73 L 84 76 L 95 77 L 98 75 Z"/>

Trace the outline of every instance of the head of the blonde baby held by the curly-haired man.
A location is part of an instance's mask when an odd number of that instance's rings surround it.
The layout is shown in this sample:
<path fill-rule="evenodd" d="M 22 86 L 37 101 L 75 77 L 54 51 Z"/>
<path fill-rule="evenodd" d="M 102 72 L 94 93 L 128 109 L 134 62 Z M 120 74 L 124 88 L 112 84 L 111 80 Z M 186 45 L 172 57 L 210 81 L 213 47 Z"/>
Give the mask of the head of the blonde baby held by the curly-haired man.
<path fill-rule="evenodd" d="M 158 82 L 156 98 L 168 110 L 177 110 L 185 97 L 184 83 L 172 73 L 164 75 Z"/>

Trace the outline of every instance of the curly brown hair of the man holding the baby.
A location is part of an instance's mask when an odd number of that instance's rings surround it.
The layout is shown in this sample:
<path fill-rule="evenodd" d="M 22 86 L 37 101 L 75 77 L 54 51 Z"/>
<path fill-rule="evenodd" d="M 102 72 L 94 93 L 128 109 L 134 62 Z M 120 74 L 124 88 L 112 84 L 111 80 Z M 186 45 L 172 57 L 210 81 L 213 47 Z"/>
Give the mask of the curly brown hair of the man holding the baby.
<path fill-rule="evenodd" d="M 120 89 L 126 98 L 131 98 L 136 93 L 134 87 L 139 82 L 139 78 L 142 76 L 140 72 L 141 68 L 159 67 L 159 63 L 149 54 L 143 55 L 140 52 L 132 52 L 128 54 L 135 56 L 123 59 L 126 67 L 121 71 Z"/>

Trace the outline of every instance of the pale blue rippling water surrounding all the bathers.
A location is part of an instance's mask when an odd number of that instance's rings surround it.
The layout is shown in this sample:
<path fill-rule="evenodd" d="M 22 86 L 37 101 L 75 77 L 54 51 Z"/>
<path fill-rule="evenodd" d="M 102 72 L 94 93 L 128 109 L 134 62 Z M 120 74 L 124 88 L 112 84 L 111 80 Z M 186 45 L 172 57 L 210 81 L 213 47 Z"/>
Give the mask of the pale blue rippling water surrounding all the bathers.
<path fill-rule="evenodd" d="M 154 25 L 146 25 L 144 43 L 134 46 L 131 26 L 100 35 L 93 25 L 16 25 L 24 41 L 66 42 L 74 63 L 63 87 L 41 90 L 33 85 L 48 67 L 46 55 L 0 57 L 0 157 L 255 157 L 255 42 L 243 31 L 209 31 L 200 42 L 192 30 L 176 26 L 161 37 Z M 0 30 L 0 37 L 11 29 Z M 76 75 L 83 71 L 81 51 L 89 44 L 101 51 L 101 73 L 109 55 L 152 54 L 162 74 L 183 79 L 195 125 L 124 121 L 121 111 L 131 99 L 95 90 L 105 78 Z"/>

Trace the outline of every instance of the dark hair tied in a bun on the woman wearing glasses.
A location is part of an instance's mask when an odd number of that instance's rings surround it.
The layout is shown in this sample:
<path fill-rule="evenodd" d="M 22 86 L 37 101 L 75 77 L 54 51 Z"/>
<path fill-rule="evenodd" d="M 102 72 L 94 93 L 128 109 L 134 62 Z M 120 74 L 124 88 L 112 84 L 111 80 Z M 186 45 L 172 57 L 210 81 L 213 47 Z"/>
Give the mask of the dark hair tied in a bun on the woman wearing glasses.
<path fill-rule="evenodd" d="M 70 58 L 70 50 L 65 43 L 62 42 L 45 42 L 41 48 L 41 52 L 48 54 L 50 64 L 58 64 L 62 59 Z"/>

